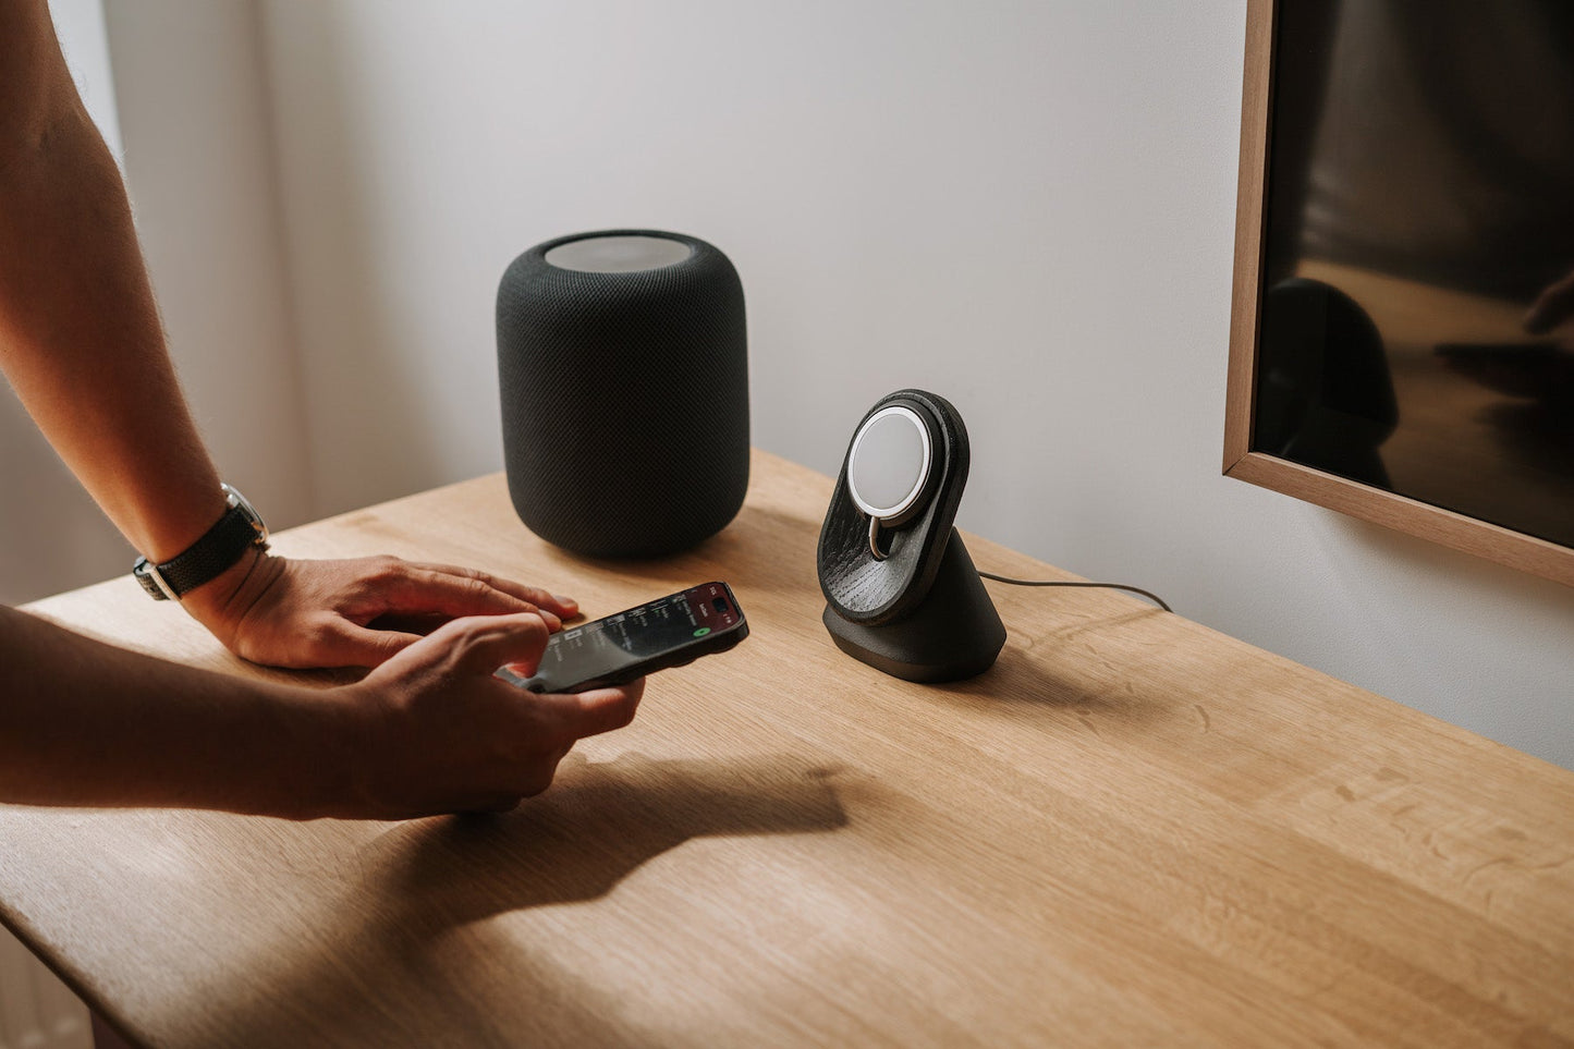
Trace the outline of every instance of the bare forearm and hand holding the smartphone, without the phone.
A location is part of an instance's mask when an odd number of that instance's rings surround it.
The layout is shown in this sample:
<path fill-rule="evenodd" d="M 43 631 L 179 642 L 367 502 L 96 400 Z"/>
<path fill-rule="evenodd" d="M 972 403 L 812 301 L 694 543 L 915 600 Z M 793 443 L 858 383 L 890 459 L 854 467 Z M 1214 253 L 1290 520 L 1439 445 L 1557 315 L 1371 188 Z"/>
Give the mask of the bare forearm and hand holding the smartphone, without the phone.
<path fill-rule="evenodd" d="M 0 606 L 0 802 L 216 808 L 294 819 L 501 810 L 575 742 L 634 717 L 644 682 L 538 696 L 537 613 L 441 627 L 354 685 L 214 674 Z"/>

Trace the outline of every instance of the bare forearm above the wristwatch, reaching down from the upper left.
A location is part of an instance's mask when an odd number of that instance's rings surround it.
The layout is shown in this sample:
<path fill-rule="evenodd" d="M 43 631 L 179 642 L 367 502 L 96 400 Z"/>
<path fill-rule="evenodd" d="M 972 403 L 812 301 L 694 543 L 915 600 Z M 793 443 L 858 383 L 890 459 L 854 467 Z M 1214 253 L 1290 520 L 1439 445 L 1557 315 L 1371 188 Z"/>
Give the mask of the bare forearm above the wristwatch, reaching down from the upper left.
<path fill-rule="evenodd" d="M 165 353 L 120 172 L 42 8 L 9 6 L 0 43 L 0 367 L 110 520 L 162 561 L 224 498 Z"/>

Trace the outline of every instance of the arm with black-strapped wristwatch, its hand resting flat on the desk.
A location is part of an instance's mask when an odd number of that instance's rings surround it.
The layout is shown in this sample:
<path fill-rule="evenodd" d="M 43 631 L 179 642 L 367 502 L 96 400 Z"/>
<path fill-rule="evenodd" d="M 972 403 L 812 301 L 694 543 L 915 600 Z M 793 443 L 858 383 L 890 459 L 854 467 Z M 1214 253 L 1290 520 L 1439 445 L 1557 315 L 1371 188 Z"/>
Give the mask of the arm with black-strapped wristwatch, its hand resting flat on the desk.
<path fill-rule="evenodd" d="M 173 589 L 238 655 L 373 666 L 417 638 L 373 628 L 387 614 L 540 610 L 556 625 L 578 611 L 463 565 L 286 562 L 255 543 L 236 550 L 222 528 L 198 543 L 225 512 L 219 473 L 164 345 L 120 172 L 77 98 L 46 0 L 0 0 L 0 370 L 139 553 L 153 564 L 189 553 L 187 565 L 219 572 Z"/>

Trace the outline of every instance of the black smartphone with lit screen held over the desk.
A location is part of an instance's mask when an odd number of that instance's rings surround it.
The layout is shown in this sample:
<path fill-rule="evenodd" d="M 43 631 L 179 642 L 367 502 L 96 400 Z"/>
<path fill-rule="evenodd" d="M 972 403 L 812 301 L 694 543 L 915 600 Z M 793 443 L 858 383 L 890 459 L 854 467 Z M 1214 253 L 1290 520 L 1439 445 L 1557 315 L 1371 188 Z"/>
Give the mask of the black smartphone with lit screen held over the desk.
<path fill-rule="evenodd" d="M 559 630 L 530 677 L 497 671 L 530 691 L 587 691 L 622 685 L 658 669 L 726 652 L 749 636 L 738 599 L 726 583 L 702 583 L 677 594 Z"/>

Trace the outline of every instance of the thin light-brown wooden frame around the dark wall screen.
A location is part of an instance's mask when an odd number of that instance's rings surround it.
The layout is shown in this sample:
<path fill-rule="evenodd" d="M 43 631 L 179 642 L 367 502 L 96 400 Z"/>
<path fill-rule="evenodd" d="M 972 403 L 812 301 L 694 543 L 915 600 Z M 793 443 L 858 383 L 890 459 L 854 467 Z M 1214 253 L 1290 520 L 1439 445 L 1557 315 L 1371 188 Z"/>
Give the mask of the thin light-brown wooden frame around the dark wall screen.
<path fill-rule="evenodd" d="M 1225 474 L 1330 510 L 1574 586 L 1574 550 L 1535 536 L 1251 450 L 1265 235 L 1275 0 L 1247 0 L 1236 271 L 1225 395 Z"/>

